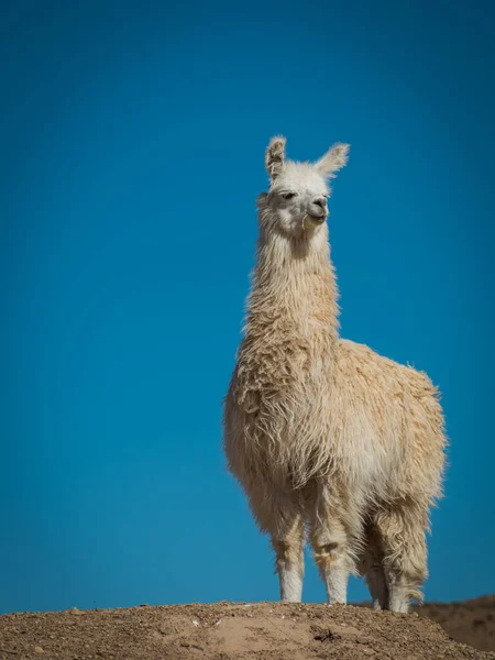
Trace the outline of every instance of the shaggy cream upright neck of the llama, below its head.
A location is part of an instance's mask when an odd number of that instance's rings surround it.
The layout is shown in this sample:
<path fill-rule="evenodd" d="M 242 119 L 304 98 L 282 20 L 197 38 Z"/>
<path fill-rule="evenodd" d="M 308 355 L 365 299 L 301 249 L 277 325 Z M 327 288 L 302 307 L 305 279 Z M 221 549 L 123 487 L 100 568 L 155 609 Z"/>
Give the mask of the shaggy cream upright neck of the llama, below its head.
<path fill-rule="evenodd" d="M 264 230 L 249 300 L 248 332 L 266 332 L 283 319 L 295 337 L 334 354 L 338 341 L 338 288 L 327 228 L 289 240 Z M 268 330 L 270 331 L 270 330 Z"/>

